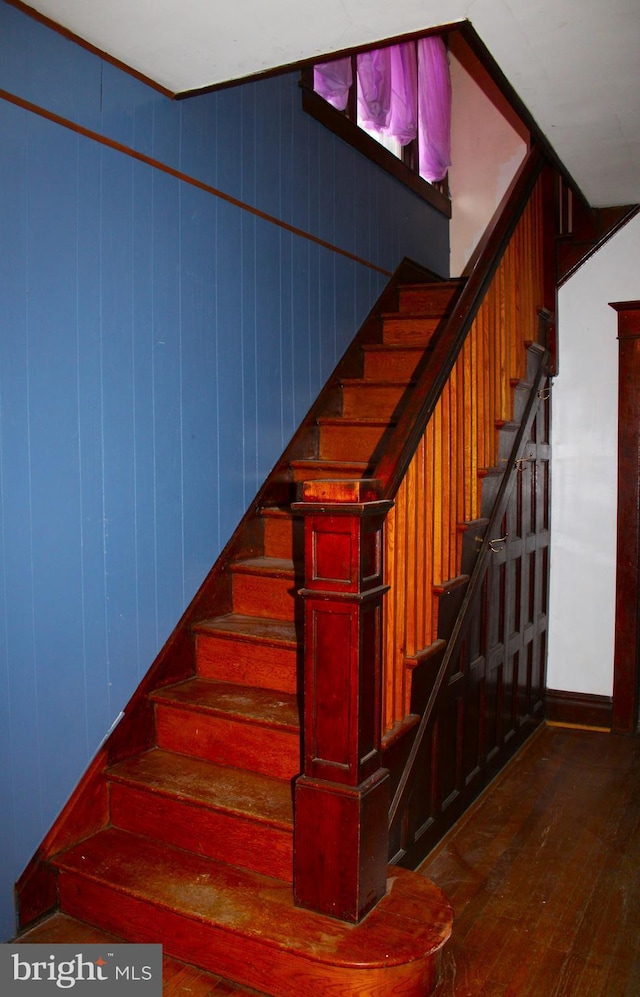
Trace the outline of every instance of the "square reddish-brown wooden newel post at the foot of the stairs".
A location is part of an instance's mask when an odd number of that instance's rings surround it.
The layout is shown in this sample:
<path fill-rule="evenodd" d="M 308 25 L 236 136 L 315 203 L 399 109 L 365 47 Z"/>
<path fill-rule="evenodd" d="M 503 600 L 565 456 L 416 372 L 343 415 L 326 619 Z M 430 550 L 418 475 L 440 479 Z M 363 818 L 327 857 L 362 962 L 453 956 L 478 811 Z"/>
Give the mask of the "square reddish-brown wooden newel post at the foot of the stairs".
<path fill-rule="evenodd" d="M 380 767 L 382 528 L 376 481 L 310 481 L 305 516 L 304 772 L 294 896 L 359 921 L 386 890 L 389 773 Z"/>

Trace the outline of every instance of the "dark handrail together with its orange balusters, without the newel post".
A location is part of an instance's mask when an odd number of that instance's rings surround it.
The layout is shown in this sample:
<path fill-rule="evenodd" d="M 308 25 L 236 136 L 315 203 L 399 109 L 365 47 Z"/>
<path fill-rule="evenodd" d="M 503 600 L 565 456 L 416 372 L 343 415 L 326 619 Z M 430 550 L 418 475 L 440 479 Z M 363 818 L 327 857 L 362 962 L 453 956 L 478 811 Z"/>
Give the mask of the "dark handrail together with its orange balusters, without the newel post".
<path fill-rule="evenodd" d="M 391 441 L 376 469 L 381 495 L 394 501 L 384 549 L 385 734 L 410 714 L 413 668 L 438 651 L 443 595 L 467 581 L 463 540 L 481 515 L 483 476 L 504 468 L 497 427 L 513 418 L 545 298 L 541 168 L 532 154 L 400 419 L 403 445 Z"/>

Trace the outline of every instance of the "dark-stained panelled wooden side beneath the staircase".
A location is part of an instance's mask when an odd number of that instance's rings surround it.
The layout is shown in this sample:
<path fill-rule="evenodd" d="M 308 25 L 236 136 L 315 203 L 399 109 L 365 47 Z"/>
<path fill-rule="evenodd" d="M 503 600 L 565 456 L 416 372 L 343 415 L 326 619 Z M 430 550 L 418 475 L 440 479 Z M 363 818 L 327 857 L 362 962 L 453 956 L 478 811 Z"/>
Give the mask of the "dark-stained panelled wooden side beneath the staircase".
<path fill-rule="evenodd" d="M 495 531 L 500 539 L 487 555 L 460 652 L 425 737 L 415 789 L 392 833 L 391 854 L 403 865 L 424 857 L 543 719 L 550 399 L 536 405 L 526 458 L 511 472 L 516 480 Z M 412 713 L 423 712 L 429 688 L 414 677 Z"/>

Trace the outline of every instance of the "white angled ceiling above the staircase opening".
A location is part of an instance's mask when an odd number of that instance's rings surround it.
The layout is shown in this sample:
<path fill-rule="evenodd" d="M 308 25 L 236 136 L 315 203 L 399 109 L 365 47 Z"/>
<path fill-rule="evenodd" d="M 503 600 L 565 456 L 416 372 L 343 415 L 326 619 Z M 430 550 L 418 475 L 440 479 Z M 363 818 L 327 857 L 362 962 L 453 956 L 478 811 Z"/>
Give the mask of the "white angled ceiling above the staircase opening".
<path fill-rule="evenodd" d="M 640 0 L 30 0 L 172 93 L 468 19 L 594 206 L 640 202 Z"/>

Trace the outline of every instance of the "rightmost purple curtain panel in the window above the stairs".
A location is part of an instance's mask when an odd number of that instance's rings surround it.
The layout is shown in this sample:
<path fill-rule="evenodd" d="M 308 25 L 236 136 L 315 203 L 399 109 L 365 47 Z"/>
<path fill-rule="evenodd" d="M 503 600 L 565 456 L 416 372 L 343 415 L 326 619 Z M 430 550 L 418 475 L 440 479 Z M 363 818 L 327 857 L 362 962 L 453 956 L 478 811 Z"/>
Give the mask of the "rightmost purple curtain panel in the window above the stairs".
<path fill-rule="evenodd" d="M 418 41 L 418 141 L 420 175 L 431 183 L 443 180 L 451 165 L 451 78 L 437 35 Z"/>

